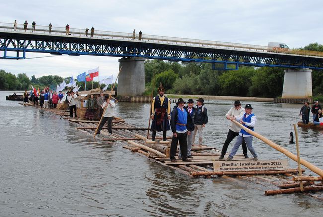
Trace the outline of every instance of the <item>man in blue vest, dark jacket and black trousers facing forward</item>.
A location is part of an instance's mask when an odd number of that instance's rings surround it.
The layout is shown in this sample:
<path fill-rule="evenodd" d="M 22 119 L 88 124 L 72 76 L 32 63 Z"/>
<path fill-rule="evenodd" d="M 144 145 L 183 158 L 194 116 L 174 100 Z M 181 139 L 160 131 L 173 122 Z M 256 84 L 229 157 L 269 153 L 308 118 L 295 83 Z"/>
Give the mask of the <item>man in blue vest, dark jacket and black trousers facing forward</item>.
<path fill-rule="evenodd" d="M 170 160 L 171 162 L 177 162 L 175 155 L 177 150 L 177 144 L 179 141 L 180 152 L 183 161 L 192 162 L 187 159 L 187 135 L 190 135 L 189 130 L 193 129 L 193 124 L 191 122 L 190 114 L 184 109 L 184 104 L 186 102 L 179 98 L 177 101 L 177 106 L 174 107 L 171 113 L 170 126 L 173 132 L 173 138 L 170 146 Z"/>

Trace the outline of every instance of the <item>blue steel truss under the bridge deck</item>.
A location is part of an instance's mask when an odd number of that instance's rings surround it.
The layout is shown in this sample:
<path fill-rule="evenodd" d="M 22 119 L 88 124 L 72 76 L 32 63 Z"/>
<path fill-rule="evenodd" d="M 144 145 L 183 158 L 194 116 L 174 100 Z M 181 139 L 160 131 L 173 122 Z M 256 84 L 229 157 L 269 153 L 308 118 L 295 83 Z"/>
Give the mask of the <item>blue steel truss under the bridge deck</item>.
<path fill-rule="evenodd" d="M 213 69 L 216 69 L 215 64 L 223 65 L 219 68 L 221 70 L 237 70 L 239 65 L 323 69 L 323 57 L 317 56 L 139 40 L 0 32 L 0 59 L 24 59 L 27 52 L 206 62 L 212 63 Z"/>

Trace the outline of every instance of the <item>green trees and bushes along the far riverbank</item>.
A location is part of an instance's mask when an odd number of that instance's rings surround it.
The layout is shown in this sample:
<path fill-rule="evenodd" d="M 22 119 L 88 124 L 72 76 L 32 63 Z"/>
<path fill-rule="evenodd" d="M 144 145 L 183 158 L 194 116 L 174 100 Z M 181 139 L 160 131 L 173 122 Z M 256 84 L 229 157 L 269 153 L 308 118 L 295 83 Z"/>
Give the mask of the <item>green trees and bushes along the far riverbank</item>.
<path fill-rule="evenodd" d="M 323 45 L 312 43 L 304 50 L 321 51 Z M 223 66 L 215 64 L 219 69 Z M 201 96 L 205 99 L 228 99 L 232 96 L 250 98 L 279 98 L 282 94 L 285 68 L 278 67 L 246 67 L 240 66 L 238 70 L 213 70 L 210 63 L 179 63 L 162 60 L 145 61 L 145 86 L 144 96 L 157 94 L 157 86 L 161 82 L 166 89 L 167 95 L 174 96 Z M 154 79 L 153 79 L 154 77 Z M 71 77 L 62 78 L 57 75 L 41 76 L 34 75 L 29 78 L 26 73 L 17 76 L 0 70 L 0 90 L 31 90 L 31 85 L 36 89 L 50 87 L 55 90 L 56 84 L 63 80 L 70 82 Z M 155 81 L 155 83 L 153 82 Z M 81 85 L 80 91 L 84 90 L 84 82 L 76 81 Z M 92 82 L 86 86 L 92 88 Z M 102 89 L 105 85 L 102 84 Z M 111 85 L 110 85 L 111 86 Z M 93 81 L 93 88 L 98 87 L 98 82 Z M 323 70 L 312 71 L 313 100 L 323 101 Z M 111 89 L 111 87 L 108 87 Z M 117 84 L 116 84 L 117 91 Z M 210 98 L 210 99 L 211 99 Z M 231 98 L 233 99 L 233 98 Z M 255 99 L 256 100 L 256 99 Z"/>

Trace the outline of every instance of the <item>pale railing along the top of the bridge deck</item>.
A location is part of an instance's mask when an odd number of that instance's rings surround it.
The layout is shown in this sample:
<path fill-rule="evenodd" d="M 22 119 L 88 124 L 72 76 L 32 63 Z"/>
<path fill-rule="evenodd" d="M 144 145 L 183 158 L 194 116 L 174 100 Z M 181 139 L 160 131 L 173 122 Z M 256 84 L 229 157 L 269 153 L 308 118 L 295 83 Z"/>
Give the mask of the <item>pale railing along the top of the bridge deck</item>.
<path fill-rule="evenodd" d="M 13 23 L 1 23 L 0 30 L 6 31 L 18 31 L 25 32 L 26 34 L 49 34 L 49 27 L 42 25 L 35 25 L 35 30 L 32 30 L 32 25 L 28 24 L 27 29 L 24 29 L 24 24 L 17 24 L 14 28 Z M 34 32 L 33 32 L 34 31 Z M 111 31 L 100 31 L 94 30 L 93 36 L 91 36 L 91 29 L 88 30 L 88 36 L 86 36 L 85 29 L 70 28 L 69 32 L 66 31 L 65 27 L 55 27 L 52 26 L 51 35 L 58 36 L 73 36 L 82 38 L 93 38 L 93 39 L 113 39 L 113 40 L 123 40 L 123 41 L 139 41 L 139 34 L 124 32 L 111 32 Z M 295 54 L 295 55 L 305 55 L 305 56 L 320 56 L 323 57 L 323 52 L 307 51 L 299 49 L 287 49 L 287 50 L 273 50 L 267 46 L 260 45 L 250 45 L 242 43 L 229 43 L 221 41 L 211 41 L 211 40 L 198 40 L 189 38 L 177 38 L 177 37 L 167 37 L 158 35 L 147 35 L 142 34 L 141 40 L 139 42 L 145 43 L 158 43 L 158 44 L 172 44 L 179 46 L 194 46 L 194 47 L 204 47 L 204 48 L 222 48 L 230 50 L 242 50 L 242 51 L 257 51 L 257 52 L 273 52 L 273 53 L 285 53 L 285 54 Z"/>

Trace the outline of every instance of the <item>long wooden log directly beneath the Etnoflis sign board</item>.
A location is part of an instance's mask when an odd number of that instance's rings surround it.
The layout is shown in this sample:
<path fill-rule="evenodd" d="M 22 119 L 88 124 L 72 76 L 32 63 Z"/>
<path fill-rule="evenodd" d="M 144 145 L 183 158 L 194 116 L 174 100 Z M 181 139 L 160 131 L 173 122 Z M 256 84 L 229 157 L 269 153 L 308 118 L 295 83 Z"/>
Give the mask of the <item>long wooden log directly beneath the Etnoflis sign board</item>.
<path fill-rule="evenodd" d="M 305 170 L 303 170 L 304 172 Z M 284 174 L 284 173 L 297 173 L 297 169 L 290 170 L 260 170 L 260 171 L 210 171 L 210 172 L 194 172 L 192 176 L 222 176 L 222 175 L 268 175 L 268 174 Z"/>

